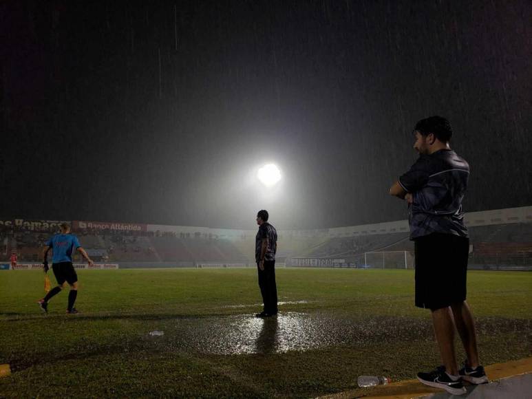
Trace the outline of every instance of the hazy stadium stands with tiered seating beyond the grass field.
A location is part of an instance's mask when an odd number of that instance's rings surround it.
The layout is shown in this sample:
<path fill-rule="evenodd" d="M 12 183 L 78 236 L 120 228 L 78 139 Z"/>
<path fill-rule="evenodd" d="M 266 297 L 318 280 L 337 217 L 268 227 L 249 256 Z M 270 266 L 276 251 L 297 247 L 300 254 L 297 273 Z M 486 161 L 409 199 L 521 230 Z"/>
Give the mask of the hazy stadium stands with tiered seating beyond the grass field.
<path fill-rule="evenodd" d="M 522 211 L 524 208 L 515 209 L 521 210 L 520 217 L 512 216 L 512 209 L 487 211 L 489 215 L 508 214 L 506 220 L 511 223 L 504 223 L 502 217 L 492 217 L 491 220 L 488 217 L 480 218 L 482 213 L 471 219 L 471 268 L 532 270 L 532 207 L 525 207 L 526 212 Z M 41 261 L 41 249 L 52 235 L 50 229 L 55 225 L 50 222 L 48 230 L 34 231 L 28 226 L 40 226 L 39 223 L 43 221 L 25 223 L 18 226 L 16 223 L 0 223 L 0 259 L 3 261 L 8 261 L 12 252 L 19 255 L 19 262 Z M 140 262 L 152 266 L 158 263 L 187 266 L 202 263 L 255 265 L 254 230 L 183 227 L 182 231 L 178 231 L 177 226 L 173 229 L 78 228 L 74 233 L 96 261 Z M 294 258 L 343 259 L 350 266 L 360 267 L 367 260 L 365 254 L 405 251 L 409 258 L 413 257 L 414 244 L 409 241 L 405 222 L 325 230 L 281 230 L 277 261 L 291 266 L 291 259 Z"/>

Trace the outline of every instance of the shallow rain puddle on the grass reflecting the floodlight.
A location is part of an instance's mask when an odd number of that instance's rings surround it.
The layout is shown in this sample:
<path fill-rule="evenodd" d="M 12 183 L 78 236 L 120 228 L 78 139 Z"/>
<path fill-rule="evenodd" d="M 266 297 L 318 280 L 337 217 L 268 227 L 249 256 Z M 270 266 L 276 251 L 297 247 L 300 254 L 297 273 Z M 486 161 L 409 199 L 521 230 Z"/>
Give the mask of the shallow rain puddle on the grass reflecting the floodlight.
<path fill-rule="evenodd" d="M 489 318 L 479 331 L 520 332 L 532 337 L 532 321 Z M 320 313 L 281 312 L 266 319 L 253 314 L 162 321 L 164 336 L 143 338 L 160 350 L 205 354 L 271 354 L 349 345 L 387 345 L 401 341 L 433 340 L 429 319 L 368 316 L 341 319 Z M 155 348 L 154 348 L 155 349 Z"/>

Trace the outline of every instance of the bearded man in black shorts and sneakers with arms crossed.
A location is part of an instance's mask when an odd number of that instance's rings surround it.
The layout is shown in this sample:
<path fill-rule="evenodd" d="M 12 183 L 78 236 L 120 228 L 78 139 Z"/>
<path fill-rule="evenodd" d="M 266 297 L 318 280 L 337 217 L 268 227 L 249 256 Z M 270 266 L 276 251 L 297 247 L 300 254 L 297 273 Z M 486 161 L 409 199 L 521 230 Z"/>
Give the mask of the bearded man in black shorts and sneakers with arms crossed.
<path fill-rule="evenodd" d="M 462 200 L 467 191 L 469 164 L 449 147 L 452 129 L 440 116 L 420 120 L 414 128 L 416 163 L 390 188 L 406 200 L 410 239 L 416 252 L 416 306 L 431 311 L 443 366 L 418 373 L 425 385 L 454 395 L 466 393 L 462 380 L 487 382 L 478 360 L 473 316 L 466 299 L 469 235 Z M 467 354 L 459 370 L 454 331 Z"/>

